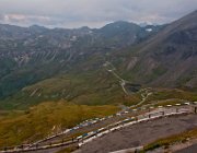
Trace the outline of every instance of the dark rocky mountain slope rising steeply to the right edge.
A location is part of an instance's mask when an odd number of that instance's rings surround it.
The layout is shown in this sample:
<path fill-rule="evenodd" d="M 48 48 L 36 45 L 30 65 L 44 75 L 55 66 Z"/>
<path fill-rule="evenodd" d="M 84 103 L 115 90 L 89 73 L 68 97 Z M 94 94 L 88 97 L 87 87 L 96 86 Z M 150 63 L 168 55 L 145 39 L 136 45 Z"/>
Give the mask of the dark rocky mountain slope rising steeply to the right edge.
<path fill-rule="evenodd" d="M 197 11 L 167 25 L 125 58 L 134 81 L 164 87 L 197 87 Z"/>

